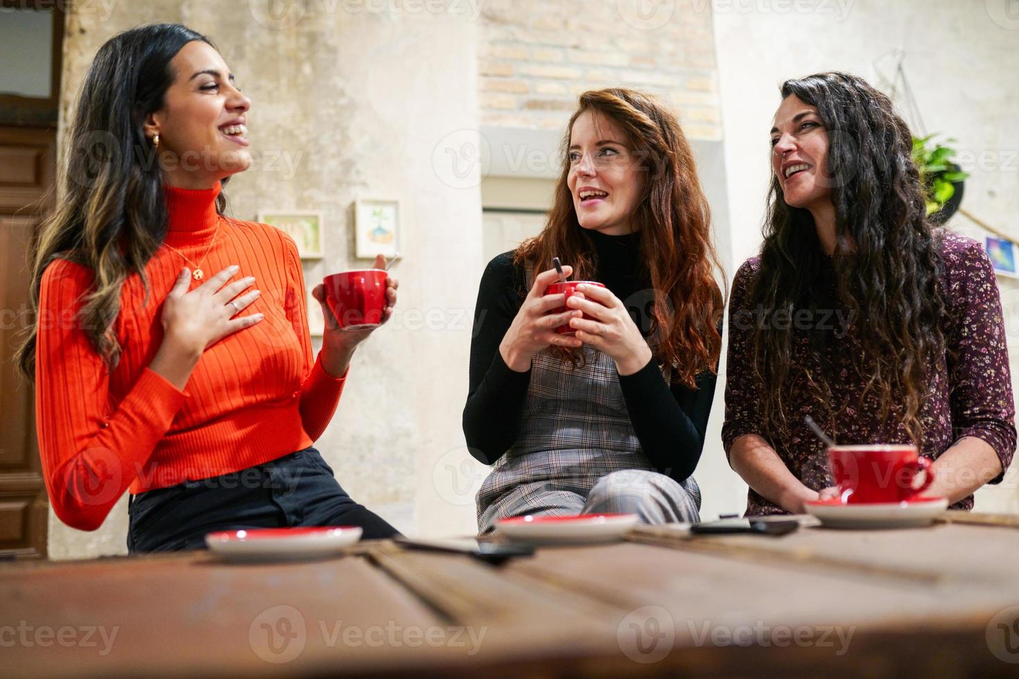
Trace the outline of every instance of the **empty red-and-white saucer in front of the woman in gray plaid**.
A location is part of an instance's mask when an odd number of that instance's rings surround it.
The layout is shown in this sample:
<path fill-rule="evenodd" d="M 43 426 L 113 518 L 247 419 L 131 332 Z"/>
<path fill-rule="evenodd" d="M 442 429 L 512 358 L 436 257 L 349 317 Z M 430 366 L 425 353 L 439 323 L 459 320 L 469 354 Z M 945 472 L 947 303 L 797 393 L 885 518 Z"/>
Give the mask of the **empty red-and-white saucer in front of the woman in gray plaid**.
<path fill-rule="evenodd" d="M 606 543 L 623 537 L 637 525 L 636 514 L 580 516 L 516 516 L 495 523 L 499 534 L 526 543 L 577 545 Z"/>

